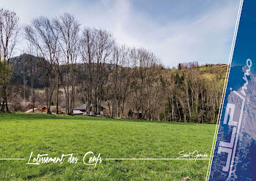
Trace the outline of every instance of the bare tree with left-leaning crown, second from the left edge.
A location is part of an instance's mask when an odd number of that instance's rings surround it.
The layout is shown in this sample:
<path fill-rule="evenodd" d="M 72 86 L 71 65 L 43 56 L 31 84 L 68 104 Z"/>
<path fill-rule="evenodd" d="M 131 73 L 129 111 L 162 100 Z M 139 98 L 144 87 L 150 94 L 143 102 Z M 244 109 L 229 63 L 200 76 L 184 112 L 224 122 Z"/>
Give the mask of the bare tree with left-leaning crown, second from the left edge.
<path fill-rule="evenodd" d="M 31 26 L 25 27 L 25 37 L 37 49 L 40 66 L 46 70 L 46 104 L 50 113 L 54 90 L 53 78 L 56 74 L 59 52 L 59 34 L 52 20 L 39 17 L 32 21 Z"/>

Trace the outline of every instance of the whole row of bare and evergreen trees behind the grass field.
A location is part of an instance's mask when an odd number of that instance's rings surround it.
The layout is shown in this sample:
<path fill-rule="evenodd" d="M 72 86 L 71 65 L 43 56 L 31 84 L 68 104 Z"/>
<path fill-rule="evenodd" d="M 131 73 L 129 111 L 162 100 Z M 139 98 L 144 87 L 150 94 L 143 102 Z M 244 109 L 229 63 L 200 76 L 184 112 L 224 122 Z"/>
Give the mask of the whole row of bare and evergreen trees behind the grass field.
<path fill-rule="evenodd" d="M 72 115 L 87 104 L 94 115 L 105 109 L 111 117 L 199 123 L 217 118 L 225 72 L 219 66 L 208 66 L 208 76 L 197 62 L 165 69 L 149 50 L 119 45 L 109 31 L 81 28 L 68 13 L 19 27 L 15 12 L 0 9 L 2 112 L 23 94 L 29 108 L 43 99 L 49 114 L 52 105 L 57 114 Z M 28 45 L 27 55 L 11 58 L 18 36 Z M 15 88 L 15 81 L 23 88 Z M 41 97 L 35 91 L 40 87 Z"/>

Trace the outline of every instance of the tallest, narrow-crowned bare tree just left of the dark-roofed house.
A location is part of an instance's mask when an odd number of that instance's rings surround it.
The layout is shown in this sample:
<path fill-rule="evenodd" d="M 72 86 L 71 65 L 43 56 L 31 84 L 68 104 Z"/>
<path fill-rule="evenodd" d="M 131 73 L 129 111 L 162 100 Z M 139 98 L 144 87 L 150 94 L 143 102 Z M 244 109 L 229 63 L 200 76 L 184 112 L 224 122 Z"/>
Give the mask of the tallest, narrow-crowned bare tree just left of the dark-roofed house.
<path fill-rule="evenodd" d="M 80 23 L 74 16 L 64 13 L 54 20 L 59 31 L 59 46 L 66 65 L 64 90 L 66 95 L 66 112 L 72 115 L 75 102 L 75 72 L 80 45 Z M 69 89 L 71 88 L 71 90 Z"/>

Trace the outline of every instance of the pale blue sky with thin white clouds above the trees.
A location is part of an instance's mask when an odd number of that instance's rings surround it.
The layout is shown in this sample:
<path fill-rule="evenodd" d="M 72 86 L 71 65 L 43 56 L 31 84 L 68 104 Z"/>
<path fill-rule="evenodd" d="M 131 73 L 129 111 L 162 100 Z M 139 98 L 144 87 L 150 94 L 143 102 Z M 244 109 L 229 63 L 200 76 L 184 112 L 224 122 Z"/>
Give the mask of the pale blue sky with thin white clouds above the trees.
<path fill-rule="evenodd" d="M 61 12 L 75 15 L 82 27 L 111 31 L 117 42 L 145 47 L 165 66 L 198 61 L 227 63 L 240 0 L 0 0 L 21 24 Z M 22 52 L 20 42 L 16 54 Z"/>

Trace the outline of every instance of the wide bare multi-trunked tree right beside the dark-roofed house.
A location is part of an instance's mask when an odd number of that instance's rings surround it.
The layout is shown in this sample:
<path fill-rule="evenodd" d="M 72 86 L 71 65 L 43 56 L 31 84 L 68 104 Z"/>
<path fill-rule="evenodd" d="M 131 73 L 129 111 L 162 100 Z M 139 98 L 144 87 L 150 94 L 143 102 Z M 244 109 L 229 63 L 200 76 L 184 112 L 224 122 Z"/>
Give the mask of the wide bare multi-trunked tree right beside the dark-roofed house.
<path fill-rule="evenodd" d="M 80 53 L 86 67 L 86 85 L 88 104 L 93 104 L 94 114 L 99 112 L 104 99 L 104 86 L 108 81 L 111 53 L 114 45 L 113 36 L 101 29 L 86 28 L 81 39 Z"/>

